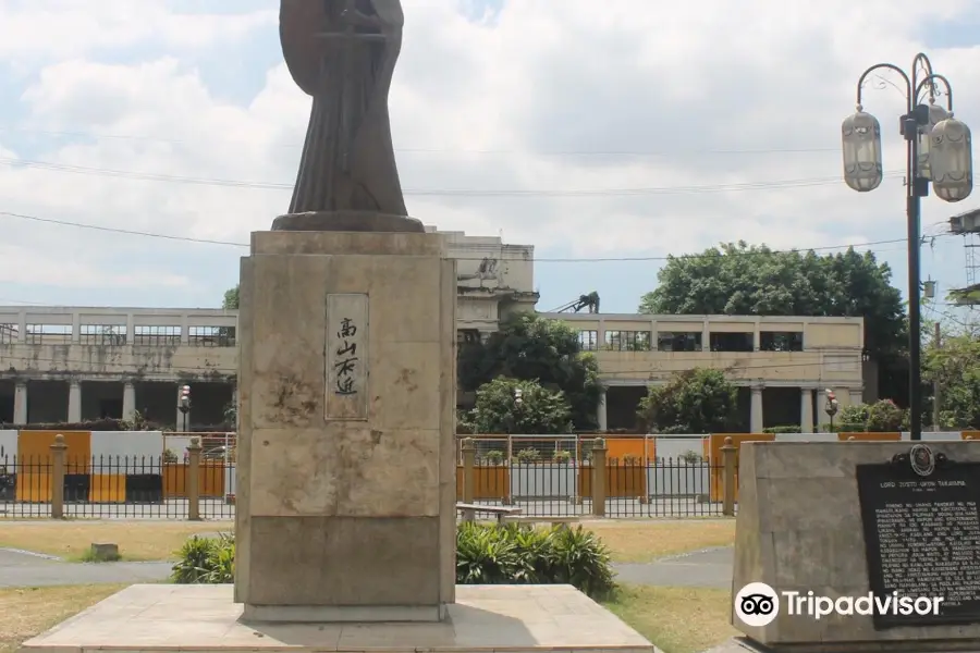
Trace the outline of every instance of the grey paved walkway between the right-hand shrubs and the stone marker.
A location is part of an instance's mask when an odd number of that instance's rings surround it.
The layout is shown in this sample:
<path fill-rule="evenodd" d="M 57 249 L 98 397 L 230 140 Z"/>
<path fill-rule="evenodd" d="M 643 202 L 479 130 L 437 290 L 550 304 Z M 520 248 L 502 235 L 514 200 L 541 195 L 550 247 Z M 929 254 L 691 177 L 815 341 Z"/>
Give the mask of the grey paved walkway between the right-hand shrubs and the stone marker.
<path fill-rule="evenodd" d="M 653 563 L 615 565 L 616 580 L 677 588 L 732 588 L 733 549 L 706 549 Z"/>

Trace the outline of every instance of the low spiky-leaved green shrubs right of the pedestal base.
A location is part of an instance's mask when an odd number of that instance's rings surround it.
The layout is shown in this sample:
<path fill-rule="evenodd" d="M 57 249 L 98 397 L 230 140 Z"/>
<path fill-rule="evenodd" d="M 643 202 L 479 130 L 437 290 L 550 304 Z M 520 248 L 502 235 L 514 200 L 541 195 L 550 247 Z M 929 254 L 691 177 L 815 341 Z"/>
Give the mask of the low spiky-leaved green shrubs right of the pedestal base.
<path fill-rule="evenodd" d="M 591 531 L 482 523 L 456 531 L 456 582 L 568 583 L 592 597 L 615 587 L 609 551 Z"/>

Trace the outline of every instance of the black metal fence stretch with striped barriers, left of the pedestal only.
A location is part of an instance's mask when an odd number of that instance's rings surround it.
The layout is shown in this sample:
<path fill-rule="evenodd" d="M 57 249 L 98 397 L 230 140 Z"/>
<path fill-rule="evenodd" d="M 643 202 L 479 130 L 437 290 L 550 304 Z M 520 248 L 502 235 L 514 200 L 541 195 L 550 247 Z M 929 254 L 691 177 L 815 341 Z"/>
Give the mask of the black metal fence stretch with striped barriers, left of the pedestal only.
<path fill-rule="evenodd" d="M 199 456 L 0 458 L 0 518 L 233 519 L 233 464 Z"/>

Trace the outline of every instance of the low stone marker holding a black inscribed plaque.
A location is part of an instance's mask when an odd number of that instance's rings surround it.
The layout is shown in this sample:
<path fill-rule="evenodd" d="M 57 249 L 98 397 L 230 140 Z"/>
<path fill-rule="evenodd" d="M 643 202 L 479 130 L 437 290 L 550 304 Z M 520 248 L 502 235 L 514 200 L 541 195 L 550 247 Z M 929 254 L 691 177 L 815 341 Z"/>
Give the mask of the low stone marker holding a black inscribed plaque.
<path fill-rule="evenodd" d="M 752 442 L 739 457 L 739 644 L 980 651 L 980 446 Z M 814 618 L 821 597 L 850 614 Z"/>

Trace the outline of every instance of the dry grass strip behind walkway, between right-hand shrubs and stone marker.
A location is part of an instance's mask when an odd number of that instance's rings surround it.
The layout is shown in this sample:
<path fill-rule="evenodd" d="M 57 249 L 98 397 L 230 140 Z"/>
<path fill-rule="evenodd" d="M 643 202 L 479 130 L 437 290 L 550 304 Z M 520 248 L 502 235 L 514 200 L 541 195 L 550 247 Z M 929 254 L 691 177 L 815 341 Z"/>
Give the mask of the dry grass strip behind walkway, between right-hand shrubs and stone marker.
<path fill-rule="evenodd" d="M 649 563 L 669 555 L 735 543 L 734 519 L 589 521 L 617 563 Z"/>

